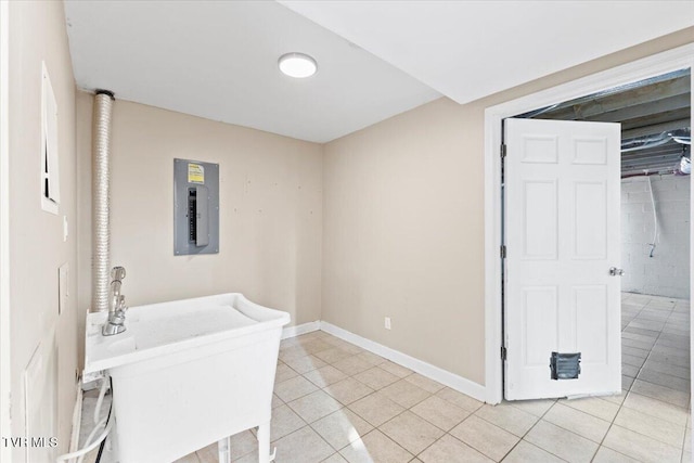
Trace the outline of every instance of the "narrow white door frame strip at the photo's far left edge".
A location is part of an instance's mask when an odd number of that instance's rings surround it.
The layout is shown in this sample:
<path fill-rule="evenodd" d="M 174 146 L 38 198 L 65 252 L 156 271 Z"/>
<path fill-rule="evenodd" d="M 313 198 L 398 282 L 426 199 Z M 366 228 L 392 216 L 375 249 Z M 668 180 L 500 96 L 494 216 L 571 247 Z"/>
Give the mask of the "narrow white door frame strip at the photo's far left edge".
<path fill-rule="evenodd" d="M 10 357 L 10 2 L 0 0 L 0 435 L 12 436 L 12 366 Z M 11 462 L 10 446 L 0 446 L 0 460 Z"/>

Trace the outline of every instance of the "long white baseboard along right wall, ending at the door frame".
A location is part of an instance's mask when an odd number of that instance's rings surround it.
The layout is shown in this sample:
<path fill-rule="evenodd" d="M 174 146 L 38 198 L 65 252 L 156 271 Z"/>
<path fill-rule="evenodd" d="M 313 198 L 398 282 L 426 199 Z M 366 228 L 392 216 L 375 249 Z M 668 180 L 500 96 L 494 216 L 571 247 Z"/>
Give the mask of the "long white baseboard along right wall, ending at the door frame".
<path fill-rule="evenodd" d="M 335 326 L 332 323 L 323 321 L 320 322 L 320 330 L 324 331 L 325 333 L 332 334 L 333 336 L 339 337 L 343 340 L 359 346 L 362 349 L 367 349 L 373 353 L 384 357 L 404 368 L 415 371 L 422 376 L 426 376 L 430 380 L 439 382 L 442 385 L 450 387 L 451 389 L 455 389 L 459 393 L 463 393 L 467 396 L 474 397 L 477 400 L 485 401 L 487 398 L 487 389 L 485 388 L 485 386 L 438 366 L 434 366 L 430 363 L 426 363 L 422 360 L 415 359 L 414 357 L 410 357 L 407 353 L 400 352 L 399 350 L 391 349 L 390 347 L 386 347 L 371 339 L 367 339 L 365 337 L 361 337 L 357 334 L 350 333 L 347 330 L 343 330 L 342 327 Z"/>

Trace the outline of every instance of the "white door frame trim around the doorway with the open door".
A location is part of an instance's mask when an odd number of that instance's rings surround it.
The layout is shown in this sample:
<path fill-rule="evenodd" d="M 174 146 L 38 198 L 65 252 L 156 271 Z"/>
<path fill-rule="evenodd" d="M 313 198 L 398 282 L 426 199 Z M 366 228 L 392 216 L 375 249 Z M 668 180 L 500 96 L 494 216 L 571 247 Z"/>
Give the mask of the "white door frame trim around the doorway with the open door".
<path fill-rule="evenodd" d="M 693 89 L 691 107 L 694 108 L 694 43 L 689 43 L 485 110 L 485 396 L 487 403 L 499 403 L 503 399 L 503 363 L 500 352 L 502 346 L 500 258 L 502 120 L 683 68 L 693 70 L 691 73 Z M 690 117 L 692 118 L 692 115 Z M 694 189 L 692 192 L 691 198 L 694 198 Z M 690 209 L 690 218 L 693 217 Z M 690 230 L 692 243 L 694 243 L 693 237 L 694 227 Z M 693 270 L 690 280 L 692 290 L 694 290 L 693 256 L 694 254 L 690 253 L 690 267 Z"/>

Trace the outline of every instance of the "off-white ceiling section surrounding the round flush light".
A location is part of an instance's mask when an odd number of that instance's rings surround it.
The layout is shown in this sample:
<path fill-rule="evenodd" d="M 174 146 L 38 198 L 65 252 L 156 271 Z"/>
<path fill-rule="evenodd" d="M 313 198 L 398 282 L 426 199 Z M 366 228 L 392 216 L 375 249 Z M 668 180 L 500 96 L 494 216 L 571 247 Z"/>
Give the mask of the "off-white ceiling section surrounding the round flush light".
<path fill-rule="evenodd" d="M 273 1 L 66 1 L 77 85 L 116 99 L 326 142 L 440 94 Z M 318 61 L 308 79 L 278 59 Z"/>

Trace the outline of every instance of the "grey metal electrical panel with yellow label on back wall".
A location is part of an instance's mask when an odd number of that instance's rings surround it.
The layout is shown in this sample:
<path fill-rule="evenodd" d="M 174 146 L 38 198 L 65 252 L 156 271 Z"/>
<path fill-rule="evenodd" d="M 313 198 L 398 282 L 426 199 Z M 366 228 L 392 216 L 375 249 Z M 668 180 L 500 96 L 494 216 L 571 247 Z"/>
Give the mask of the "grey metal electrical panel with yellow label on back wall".
<path fill-rule="evenodd" d="M 219 164 L 174 159 L 174 254 L 219 253 Z"/>

